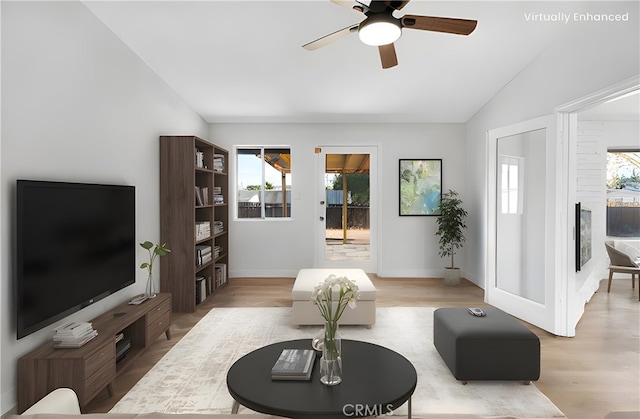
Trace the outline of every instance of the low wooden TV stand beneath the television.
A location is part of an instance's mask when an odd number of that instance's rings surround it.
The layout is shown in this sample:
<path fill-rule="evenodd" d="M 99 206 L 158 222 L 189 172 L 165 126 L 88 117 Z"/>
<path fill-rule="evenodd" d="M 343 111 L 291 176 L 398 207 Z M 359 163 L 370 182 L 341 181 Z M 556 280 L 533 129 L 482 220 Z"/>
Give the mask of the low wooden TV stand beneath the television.
<path fill-rule="evenodd" d="M 121 304 L 91 320 L 96 336 L 77 349 L 55 349 L 53 341 L 18 360 L 18 413 L 58 387 L 69 387 L 86 406 L 162 333 L 171 339 L 171 294 L 158 294 L 139 305 Z M 131 349 L 116 362 L 116 335 L 124 333 Z"/>

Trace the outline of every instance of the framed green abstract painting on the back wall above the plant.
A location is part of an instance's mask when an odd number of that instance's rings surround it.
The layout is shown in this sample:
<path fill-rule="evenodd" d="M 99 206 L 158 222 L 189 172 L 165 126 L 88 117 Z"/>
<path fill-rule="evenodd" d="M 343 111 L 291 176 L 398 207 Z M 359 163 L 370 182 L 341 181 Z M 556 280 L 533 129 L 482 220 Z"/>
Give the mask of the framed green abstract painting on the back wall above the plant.
<path fill-rule="evenodd" d="M 442 159 L 400 159 L 400 216 L 438 216 Z"/>

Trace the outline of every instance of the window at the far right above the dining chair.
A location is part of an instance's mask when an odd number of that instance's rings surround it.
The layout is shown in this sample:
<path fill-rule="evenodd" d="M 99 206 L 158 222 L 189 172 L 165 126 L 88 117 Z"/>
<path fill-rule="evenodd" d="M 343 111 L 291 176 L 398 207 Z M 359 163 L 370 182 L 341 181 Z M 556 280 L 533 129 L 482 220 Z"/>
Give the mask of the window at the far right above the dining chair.
<path fill-rule="evenodd" d="M 640 152 L 607 153 L 607 236 L 640 236 Z"/>

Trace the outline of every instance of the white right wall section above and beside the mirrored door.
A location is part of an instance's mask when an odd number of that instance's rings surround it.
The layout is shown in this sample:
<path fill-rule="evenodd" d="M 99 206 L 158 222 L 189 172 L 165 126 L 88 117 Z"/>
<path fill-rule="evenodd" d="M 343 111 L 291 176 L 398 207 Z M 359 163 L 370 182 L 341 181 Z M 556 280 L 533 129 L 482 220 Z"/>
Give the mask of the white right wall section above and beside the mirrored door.
<path fill-rule="evenodd" d="M 563 3 L 571 13 L 573 4 Z M 575 6 L 578 7 L 578 6 Z M 574 22 L 467 124 L 469 220 L 464 266 L 484 286 L 486 255 L 486 133 L 538 116 L 640 73 L 637 2 L 589 2 L 591 13 L 626 13 L 628 22 Z M 535 24 L 535 23 L 532 23 Z M 544 30 L 541 26 L 540 30 Z"/>

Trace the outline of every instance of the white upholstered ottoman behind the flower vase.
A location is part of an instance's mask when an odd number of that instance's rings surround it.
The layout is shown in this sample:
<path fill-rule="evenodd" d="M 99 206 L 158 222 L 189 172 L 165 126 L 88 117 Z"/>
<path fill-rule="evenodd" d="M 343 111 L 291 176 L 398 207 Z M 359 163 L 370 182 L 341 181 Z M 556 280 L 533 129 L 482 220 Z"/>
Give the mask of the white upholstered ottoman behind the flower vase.
<path fill-rule="evenodd" d="M 356 302 L 356 308 L 347 307 L 339 323 L 373 326 L 376 323 L 376 288 L 362 269 L 300 269 L 291 291 L 294 326 L 324 324 L 318 307 L 311 301 L 311 294 L 314 287 L 331 274 L 346 276 L 360 289 L 360 299 Z"/>

